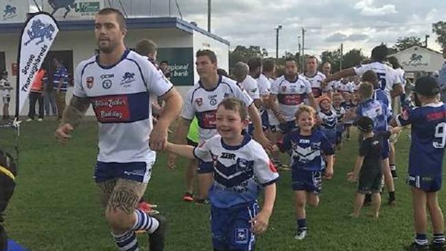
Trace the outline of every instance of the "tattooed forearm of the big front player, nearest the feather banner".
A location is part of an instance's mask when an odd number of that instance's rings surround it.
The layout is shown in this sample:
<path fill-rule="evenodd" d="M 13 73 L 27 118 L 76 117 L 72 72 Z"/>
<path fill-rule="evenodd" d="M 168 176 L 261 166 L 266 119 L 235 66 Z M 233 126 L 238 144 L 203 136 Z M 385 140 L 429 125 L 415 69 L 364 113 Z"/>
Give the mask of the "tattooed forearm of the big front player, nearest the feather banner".
<path fill-rule="evenodd" d="M 79 125 L 80 119 L 85 115 L 86 110 L 89 110 L 90 100 L 87 97 L 75 97 L 70 100 L 70 104 L 65 108 L 61 124 L 69 123 L 75 128 Z"/>

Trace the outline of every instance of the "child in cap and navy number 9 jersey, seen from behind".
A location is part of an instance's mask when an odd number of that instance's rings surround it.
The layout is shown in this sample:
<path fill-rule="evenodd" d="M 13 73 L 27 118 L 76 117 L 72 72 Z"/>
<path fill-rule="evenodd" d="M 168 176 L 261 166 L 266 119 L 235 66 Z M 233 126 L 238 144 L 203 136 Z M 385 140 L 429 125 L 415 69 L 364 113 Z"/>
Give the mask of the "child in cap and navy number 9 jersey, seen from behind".
<path fill-rule="evenodd" d="M 411 125 L 407 183 L 412 189 L 416 237 L 407 250 L 445 250 L 444 220 L 438 205 L 438 191 L 441 189 L 446 145 L 446 105 L 438 100 L 439 92 L 436 78 L 419 77 L 414 88 L 418 107 L 403 111 L 391 122 L 392 126 Z M 426 236 L 426 205 L 434 231 L 430 247 Z"/>

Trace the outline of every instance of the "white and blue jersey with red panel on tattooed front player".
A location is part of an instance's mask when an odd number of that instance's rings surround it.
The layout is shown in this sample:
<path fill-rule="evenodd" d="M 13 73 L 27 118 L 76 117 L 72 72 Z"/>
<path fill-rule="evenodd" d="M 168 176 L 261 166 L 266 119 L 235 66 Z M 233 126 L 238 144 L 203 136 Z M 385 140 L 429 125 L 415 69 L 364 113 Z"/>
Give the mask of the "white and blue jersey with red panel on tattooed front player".
<path fill-rule="evenodd" d="M 105 163 L 152 161 L 149 148 L 152 132 L 151 95 L 160 97 L 172 84 L 147 58 L 126 50 L 110 67 L 97 56 L 80 62 L 74 76 L 76 97 L 88 97 L 99 123 L 99 154 Z"/>

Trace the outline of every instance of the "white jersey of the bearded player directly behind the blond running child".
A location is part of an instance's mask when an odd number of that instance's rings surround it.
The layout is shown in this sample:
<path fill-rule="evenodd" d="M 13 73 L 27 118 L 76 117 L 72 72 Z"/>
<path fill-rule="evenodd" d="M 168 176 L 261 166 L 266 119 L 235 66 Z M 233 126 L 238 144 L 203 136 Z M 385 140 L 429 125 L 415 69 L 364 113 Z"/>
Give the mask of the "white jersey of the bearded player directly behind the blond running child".
<path fill-rule="evenodd" d="M 279 110 L 285 115 L 286 121 L 294 121 L 294 113 L 309 93 L 312 87 L 304 77 L 296 76 L 294 82 L 290 82 L 285 75 L 279 77 L 271 84 L 271 94 L 277 95 Z"/>

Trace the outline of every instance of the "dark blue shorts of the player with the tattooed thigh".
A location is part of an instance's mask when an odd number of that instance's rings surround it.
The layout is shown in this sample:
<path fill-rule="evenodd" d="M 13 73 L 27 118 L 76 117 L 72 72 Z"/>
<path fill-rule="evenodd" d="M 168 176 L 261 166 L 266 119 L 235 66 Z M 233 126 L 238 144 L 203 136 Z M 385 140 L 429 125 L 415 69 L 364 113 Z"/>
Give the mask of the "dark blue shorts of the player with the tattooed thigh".
<path fill-rule="evenodd" d="M 154 162 L 106 163 L 97 161 L 93 178 L 97 183 L 118 178 L 148 183 L 152 174 L 153 163 Z"/>

